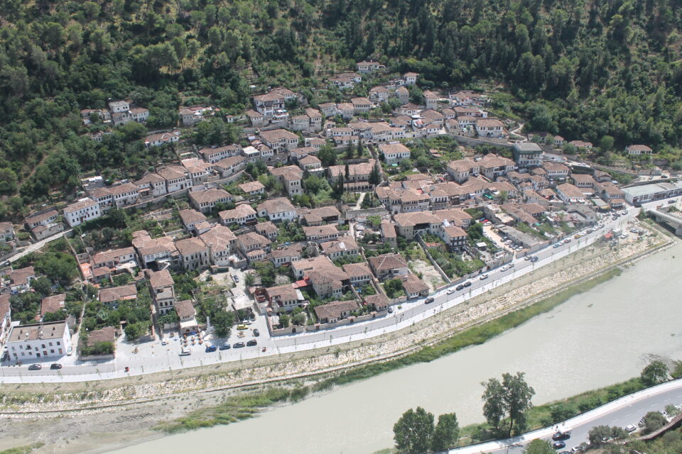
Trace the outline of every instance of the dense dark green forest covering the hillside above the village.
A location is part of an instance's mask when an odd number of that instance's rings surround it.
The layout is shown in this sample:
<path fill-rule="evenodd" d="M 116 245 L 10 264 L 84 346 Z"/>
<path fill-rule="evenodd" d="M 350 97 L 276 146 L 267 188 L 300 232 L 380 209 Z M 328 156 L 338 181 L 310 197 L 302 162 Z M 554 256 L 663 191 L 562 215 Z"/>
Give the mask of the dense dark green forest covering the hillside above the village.
<path fill-rule="evenodd" d="M 676 154 L 680 0 L 0 0 L 0 216 L 81 172 L 139 174 L 141 144 L 180 104 L 249 105 L 251 84 L 315 88 L 376 58 L 426 87 L 502 87 L 497 107 L 536 131 Z M 79 109 L 150 110 L 97 143 Z M 222 122 L 220 122 L 222 123 Z M 208 128 L 208 126 L 206 126 Z M 211 131 L 223 126 L 213 123 Z M 135 176 L 135 175 L 131 175 Z"/>

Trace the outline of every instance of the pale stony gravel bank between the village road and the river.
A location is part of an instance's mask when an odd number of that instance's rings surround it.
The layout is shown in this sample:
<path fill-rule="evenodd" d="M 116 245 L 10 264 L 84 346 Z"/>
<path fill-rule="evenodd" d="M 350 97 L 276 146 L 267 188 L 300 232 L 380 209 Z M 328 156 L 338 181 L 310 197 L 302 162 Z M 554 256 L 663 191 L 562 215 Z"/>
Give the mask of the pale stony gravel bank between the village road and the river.
<path fill-rule="evenodd" d="M 265 380 L 305 377 L 315 373 L 310 371 L 329 371 L 389 358 L 450 336 L 478 319 L 509 310 L 575 279 L 595 275 L 615 262 L 644 255 L 646 250 L 664 243 L 671 241 L 654 234 L 647 240 L 624 243 L 615 250 L 590 247 L 399 333 L 340 348 L 281 355 L 244 364 L 195 367 L 131 380 L 60 384 L 55 389 L 47 384 L 5 386 L 0 394 L 6 412 L 0 418 L 0 449 L 42 441 L 45 446 L 36 453 L 95 453 L 156 437 L 159 434 L 149 428 L 239 392 L 229 388 Z M 213 391 L 204 392 L 206 389 Z"/>

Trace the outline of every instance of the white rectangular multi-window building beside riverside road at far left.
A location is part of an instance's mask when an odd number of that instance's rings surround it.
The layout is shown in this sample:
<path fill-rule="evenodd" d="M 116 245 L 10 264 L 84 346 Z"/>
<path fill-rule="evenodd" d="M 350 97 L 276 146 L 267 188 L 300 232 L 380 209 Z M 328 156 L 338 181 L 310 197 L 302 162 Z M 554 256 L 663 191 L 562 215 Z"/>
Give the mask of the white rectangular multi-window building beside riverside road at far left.
<path fill-rule="evenodd" d="M 71 348 L 71 333 L 65 321 L 18 325 L 9 333 L 6 347 L 12 360 L 60 358 Z"/>

